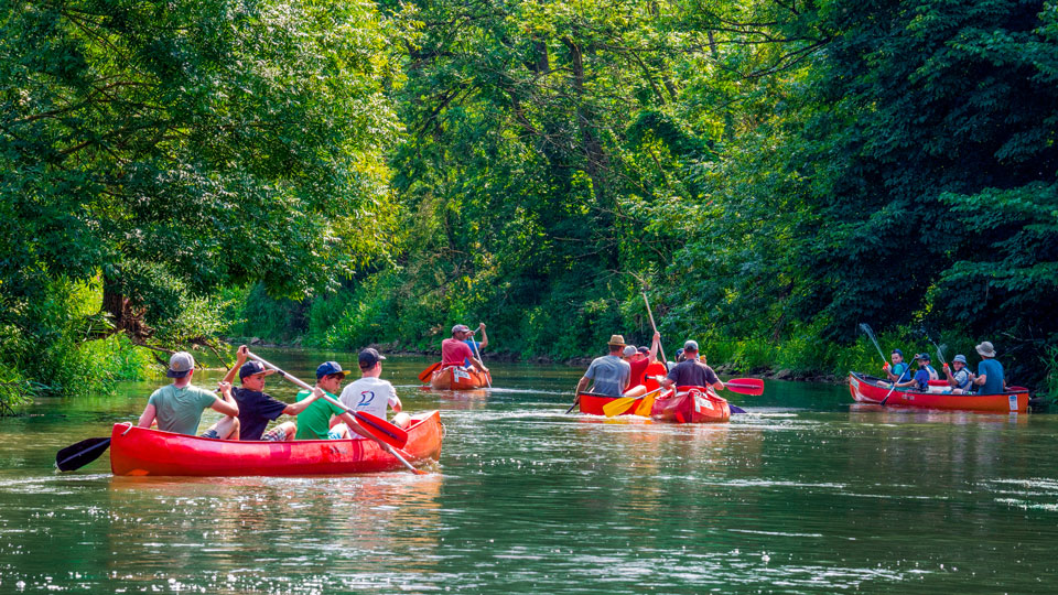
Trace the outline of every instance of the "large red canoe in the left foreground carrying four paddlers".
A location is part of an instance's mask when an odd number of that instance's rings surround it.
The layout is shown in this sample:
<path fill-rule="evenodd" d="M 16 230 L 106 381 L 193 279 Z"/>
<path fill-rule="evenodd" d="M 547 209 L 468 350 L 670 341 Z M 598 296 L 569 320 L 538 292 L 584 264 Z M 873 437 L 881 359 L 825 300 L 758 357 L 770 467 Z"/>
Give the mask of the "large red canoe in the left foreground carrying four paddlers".
<path fill-rule="evenodd" d="M 436 459 L 444 435 L 438 411 L 412 418 L 406 458 Z M 345 475 L 403 469 L 373 440 L 239 442 L 212 440 L 129 423 L 110 433 L 110 470 L 115 475 Z"/>

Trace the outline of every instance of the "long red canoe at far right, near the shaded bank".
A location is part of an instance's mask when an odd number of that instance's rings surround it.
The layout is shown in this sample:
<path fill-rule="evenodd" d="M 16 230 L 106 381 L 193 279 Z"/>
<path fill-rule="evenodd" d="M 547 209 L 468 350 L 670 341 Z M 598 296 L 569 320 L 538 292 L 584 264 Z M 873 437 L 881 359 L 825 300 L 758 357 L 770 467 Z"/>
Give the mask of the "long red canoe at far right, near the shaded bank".
<path fill-rule="evenodd" d="M 881 403 L 892 387 L 885 380 L 860 372 L 849 374 L 849 391 L 861 403 Z M 900 388 L 893 391 L 886 407 L 918 407 L 953 411 L 991 411 L 996 413 L 1025 413 L 1028 411 L 1028 390 L 1018 387 L 1001 394 L 950 394 L 921 392 Z"/>

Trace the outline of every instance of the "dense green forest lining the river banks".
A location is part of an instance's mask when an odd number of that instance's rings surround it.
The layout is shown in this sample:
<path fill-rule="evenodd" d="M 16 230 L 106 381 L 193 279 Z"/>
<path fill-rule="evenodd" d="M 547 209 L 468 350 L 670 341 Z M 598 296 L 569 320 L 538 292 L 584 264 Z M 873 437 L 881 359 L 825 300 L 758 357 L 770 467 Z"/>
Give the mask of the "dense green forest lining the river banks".
<path fill-rule="evenodd" d="M 19 1 L 9 401 L 260 336 L 843 374 L 987 339 L 1058 394 L 1058 2 Z"/>

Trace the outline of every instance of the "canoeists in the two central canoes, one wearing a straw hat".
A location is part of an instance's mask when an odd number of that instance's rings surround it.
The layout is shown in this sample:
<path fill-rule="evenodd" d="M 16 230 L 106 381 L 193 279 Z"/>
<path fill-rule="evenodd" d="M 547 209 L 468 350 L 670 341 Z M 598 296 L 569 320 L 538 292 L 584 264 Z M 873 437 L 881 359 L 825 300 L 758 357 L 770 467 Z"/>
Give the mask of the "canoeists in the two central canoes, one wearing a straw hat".
<path fill-rule="evenodd" d="M 592 383 L 591 392 L 605 397 L 643 397 L 647 392 L 647 382 L 651 380 L 645 371 L 658 353 L 661 335 L 654 334 L 649 348 L 626 345 L 622 335 L 609 337 L 606 346 L 608 355 L 595 358 L 587 371 L 576 385 L 581 393 Z M 654 378 L 665 389 L 672 386 L 712 387 L 723 390 L 724 382 L 709 367 L 699 353 L 698 342 L 688 339 L 683 344 L 682 361 L 668 369 L 662 378 Z"/>

